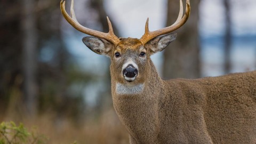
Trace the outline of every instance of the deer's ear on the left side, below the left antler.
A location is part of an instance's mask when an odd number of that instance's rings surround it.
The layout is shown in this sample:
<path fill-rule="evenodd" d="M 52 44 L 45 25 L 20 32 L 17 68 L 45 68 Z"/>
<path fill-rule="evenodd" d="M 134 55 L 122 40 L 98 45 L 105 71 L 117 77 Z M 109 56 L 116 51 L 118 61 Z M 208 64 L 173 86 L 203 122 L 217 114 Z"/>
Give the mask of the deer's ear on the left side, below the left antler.
<path fill-rule="evenodd" d="M 103 55 L 108 55 L 113 47 L 113 44 L 105 39 L 92 36 L 84 37 L 82 41 L 90 50 Z"/>

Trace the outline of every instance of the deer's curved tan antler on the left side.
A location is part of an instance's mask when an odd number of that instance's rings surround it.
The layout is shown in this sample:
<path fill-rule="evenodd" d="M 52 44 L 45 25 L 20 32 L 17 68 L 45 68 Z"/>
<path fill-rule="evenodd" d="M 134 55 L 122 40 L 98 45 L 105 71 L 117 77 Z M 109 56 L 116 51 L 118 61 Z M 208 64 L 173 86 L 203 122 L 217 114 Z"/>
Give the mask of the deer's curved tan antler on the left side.
<path fill-rule="evenodd" d="M 75 11 L 74 11 L 74 0 L 71 1 L 71 7 L 70 7 L 71 17 L 68 15 L 68 13 L 65 10 L 65 0 L 61 0 L 60 9 L 61 9 L 61 13 L 63 14 L 64 18 L 70 23 L 70 25 L 73 26 L 75 29 L 81 31 L 82 33 L 85 33 L 85 34 L 91 35 L 91 36 L 95 36 L 98 38 L 106 39 L 107 41 L 112 42 L 115 45 L 120 42 L 118 37 L 114 34 L 111 22 L 108 19 L 108 17 L 107 17 L 107 20 L 108 20 L 109 32 L 102 33 L 101 31 L 86 28 L 86 27 L 80 25 L 80 23 L 78 23 L 78 21 L 76 19 Z"/>

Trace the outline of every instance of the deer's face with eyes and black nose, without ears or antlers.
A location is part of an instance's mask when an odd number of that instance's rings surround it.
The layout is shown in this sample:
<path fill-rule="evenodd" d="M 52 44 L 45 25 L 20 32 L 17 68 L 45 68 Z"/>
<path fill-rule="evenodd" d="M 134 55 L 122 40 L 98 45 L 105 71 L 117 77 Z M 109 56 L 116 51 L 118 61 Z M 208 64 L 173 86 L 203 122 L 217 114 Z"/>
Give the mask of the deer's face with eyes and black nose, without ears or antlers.
<path fill-rule="evenodd" d="M 110 55 L 110 70 L 118 83 L 141 83 L 144 81 L 149 54 L 139 39 L 122 38 Z"/>

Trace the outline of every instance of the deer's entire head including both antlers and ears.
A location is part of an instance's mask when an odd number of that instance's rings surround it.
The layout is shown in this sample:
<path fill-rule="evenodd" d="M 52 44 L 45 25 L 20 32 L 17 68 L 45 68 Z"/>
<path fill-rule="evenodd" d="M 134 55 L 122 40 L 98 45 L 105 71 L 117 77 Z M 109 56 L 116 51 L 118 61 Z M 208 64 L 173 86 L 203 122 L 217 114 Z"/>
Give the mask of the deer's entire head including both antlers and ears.
<path fill-rule="evenodd" d="M 74 0 L 71 1 L 71 17 L 65 10 L 65 1 L 61 1 L 61 12 L 71 26 L 82 33 L 93 37 L 84 37 L 84 44 L 95 53 L 107 55 L 111 59 L 111 77 L 121 84 L 139 84 L 145 82 L 150 71 L 150 55 L 162 51 L 177 37 L 169 34 L 181 27 L 190 13 L 189 0 L 186 3 L 186 13 L 183 15 L 183 5 L 180 0 L 180 12 L 177 21 L 172 26 L 156 31 L 149 31 L 148 19 L 145 34 L 140 38 L 118 38 L 107 17 L 109 32 L 102 33 L 80 25 L 74 12 Z M 167 34 L 167 35 L 166 35 Z"/>

